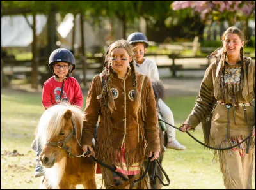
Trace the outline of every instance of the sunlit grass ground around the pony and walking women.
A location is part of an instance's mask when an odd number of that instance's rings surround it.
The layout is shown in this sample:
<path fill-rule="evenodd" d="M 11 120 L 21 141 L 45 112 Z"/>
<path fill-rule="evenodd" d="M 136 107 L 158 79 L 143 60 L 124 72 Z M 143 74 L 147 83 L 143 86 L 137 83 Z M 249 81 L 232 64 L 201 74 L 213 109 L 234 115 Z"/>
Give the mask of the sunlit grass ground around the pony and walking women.
<path fill-rule="evenodd" d="M 44 112 L 41 96 L 40 92 L 1 89 L 1 189 L 38 188 L 40 179 L 33 176 L 36 155 L 31 150 L 31 142 L 40 115 Z M 186 119 L 195 98 L 189 96 L 165 99 L 174 114 L 175 126 L 180 126 Z M 198 126 L 193 135 L 202 141 L 202 128 Z M 177 131 L 176 136 L 187 149 L 168 149 L 165 152 L 163 168 L 170 178 L 170 186 L 163 189 L 225 189 L 219 163 L 212 164 L 212 152 L 203 149 L 202 145 L 186 133 Z M 13 150 L 17 150 L 23 156 L 2 155 L 4 151 Z M 96 176 L 99 189 L 102 176 Z M 255 184 L 253 187 L 255 188 Z"/>

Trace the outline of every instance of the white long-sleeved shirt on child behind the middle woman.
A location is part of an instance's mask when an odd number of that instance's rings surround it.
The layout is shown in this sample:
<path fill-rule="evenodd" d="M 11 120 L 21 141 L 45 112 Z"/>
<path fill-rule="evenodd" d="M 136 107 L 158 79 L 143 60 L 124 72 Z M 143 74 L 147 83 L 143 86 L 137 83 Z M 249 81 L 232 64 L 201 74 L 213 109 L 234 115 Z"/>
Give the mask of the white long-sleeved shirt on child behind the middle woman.
<path fill-rule="evenodd" d="M 159 80 L 159 73 L 157 69 L 156 62 L 144 57 L 145 60 L 142 64 L 138 64 L 135 62 L 135 70 L 138 73 L 142 73 L 143 75 L 148 75 L 150 80 Z"/>

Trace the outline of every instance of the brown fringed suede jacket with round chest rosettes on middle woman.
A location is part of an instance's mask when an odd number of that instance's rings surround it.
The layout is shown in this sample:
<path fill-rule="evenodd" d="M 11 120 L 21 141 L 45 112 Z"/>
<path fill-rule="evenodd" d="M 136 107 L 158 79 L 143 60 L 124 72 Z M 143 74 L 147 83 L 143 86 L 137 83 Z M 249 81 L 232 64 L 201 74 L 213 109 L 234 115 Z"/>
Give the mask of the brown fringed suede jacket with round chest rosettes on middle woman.
<path fill-rule="evenodd" d="M 102 73 L 101 73 L 102 74 Z M 84 110 L 82 145 L 92 145 L 93 133 L 99 118 L 95 156 L 100 161 L 122 162 L 121 147 L 125 148 L 127 167 L 144 159 L 148 151 L 160 151 L 159 126 L 156 101 L 149 78 L 136 73 L 141 110 L 134 111 L 134 87 L 131 69 L 124 79 L 113 75 L 111 93 L 116 110 L 111 113 L 106 106 L 106 97 L 97 99 L 102 91 L 102 75 L 96 75 L 91 84 Z M 116 73 L 115 73 L 116 74 Z"/>

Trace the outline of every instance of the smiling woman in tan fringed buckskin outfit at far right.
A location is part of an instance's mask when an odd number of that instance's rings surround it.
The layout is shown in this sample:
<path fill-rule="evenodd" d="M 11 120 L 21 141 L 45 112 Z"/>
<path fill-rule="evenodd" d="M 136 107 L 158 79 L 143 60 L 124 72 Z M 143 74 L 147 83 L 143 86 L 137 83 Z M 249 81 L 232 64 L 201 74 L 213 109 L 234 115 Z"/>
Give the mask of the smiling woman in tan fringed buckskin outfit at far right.
<path fill-rule="evenodd" d="M 217 148 L 235 145 L 252 133 L 249 153 L 246 142 L 228 150 L 214 150 L 227 189 L 252 189 L 255 167 L 255 61 L 244 57 L 244 34 L 229 27 L 223 47 L 210 56 L 216 61 L 205 71 L 195 106 L 180 126 L 190 131 L 202 122 L 204 140 Z"/>

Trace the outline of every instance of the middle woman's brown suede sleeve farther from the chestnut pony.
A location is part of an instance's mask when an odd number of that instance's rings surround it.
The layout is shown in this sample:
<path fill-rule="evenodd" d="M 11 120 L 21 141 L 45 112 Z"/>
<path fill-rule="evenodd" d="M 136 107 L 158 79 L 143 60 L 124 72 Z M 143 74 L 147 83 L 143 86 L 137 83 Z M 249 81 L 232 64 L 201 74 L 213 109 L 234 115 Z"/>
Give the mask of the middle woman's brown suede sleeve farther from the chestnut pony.
<path fill-rule="evenodd" d="M 156 101 L 154 98 L 154 91 L 149 78 L 145 77 L 143 84 L 143 92 L 145 96 L 141 96 L 141 100 L 147 99 L 146 118 L 145 118 L 145 134 L 148 142 L 148 151 L 160 152 L 160 138 L 159 138 L 159 126 L 157 120 Z"/>

